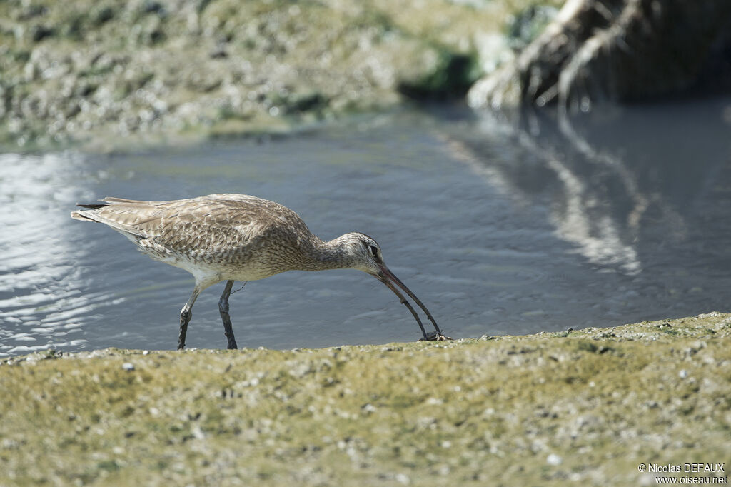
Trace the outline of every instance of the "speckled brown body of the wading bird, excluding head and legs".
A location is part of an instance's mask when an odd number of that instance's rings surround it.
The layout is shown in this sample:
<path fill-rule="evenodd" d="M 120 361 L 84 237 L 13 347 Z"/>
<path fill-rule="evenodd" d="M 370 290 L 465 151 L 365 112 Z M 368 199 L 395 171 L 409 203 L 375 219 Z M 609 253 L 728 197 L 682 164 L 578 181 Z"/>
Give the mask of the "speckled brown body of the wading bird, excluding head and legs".
<path fill-rule="evenodd" d="M 189 271 L 202 287 L 311 270 L 316 249 L 325 248 L 294 211 L 254 196 L 102 201 L 108 204 L 72 216 L 109 225 L 153 259 Z"/>

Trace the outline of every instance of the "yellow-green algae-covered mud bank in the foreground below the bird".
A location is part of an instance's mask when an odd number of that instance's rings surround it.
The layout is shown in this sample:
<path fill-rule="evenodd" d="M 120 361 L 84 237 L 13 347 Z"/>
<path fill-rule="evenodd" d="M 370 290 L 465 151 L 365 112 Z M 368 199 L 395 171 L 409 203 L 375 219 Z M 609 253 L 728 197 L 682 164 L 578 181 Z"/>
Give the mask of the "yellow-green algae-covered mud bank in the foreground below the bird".
<path fill-rule="evenodd" d="M 0 484 L 637 486 L 686 464 L 724 464 L 678 477 L 727 483 L 730 340 L 731 314 L 711 313 L 439 344 L 10 358 Z"/>

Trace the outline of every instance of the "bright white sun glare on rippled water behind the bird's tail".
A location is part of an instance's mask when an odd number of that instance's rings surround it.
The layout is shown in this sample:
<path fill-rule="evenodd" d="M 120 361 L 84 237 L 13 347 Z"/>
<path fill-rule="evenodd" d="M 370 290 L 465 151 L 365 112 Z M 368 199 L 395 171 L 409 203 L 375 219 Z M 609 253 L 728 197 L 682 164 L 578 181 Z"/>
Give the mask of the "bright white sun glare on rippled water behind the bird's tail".
<path fill-rule="evenodd" d="M 64 205 L 85 195 L 83 161 L 72 154 L 1 154 L 0 343 L 2 352 L 86 344 L 94 297 L 82 295 L 63 221 Z"/>

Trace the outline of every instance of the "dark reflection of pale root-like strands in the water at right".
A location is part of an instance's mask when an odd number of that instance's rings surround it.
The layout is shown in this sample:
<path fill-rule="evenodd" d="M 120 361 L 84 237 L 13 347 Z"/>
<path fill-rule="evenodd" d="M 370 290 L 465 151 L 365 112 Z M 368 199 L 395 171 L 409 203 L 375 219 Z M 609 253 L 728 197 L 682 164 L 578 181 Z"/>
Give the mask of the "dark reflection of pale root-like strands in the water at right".
<path fill-rule="evenodd" d="M 654 246 L 726 230 L 726 215 L 714 203 L 725 201 L 724 181 L 716 178 L 728 176 L 730 107 L 693 102 L 558 121 L 528 113 L 512 123 L 486 113 L 477 132 L 449 142 L 493 184 L 531 204 L 544 203 L 555 235 L 597 268 L 634 276 L 643 261 L 653 260 Z M 487 134 L 486 140 L 475 137 Z M 496 134 L 511 151 L 485 160 Z M 689 204 L 701 205 L 695 208 L 700 213 Z M 689 225 L 711 214 L 721 229 L 697 228 L 691 235 Z M 640 249 L 648 254 L 641 256 Z"/>

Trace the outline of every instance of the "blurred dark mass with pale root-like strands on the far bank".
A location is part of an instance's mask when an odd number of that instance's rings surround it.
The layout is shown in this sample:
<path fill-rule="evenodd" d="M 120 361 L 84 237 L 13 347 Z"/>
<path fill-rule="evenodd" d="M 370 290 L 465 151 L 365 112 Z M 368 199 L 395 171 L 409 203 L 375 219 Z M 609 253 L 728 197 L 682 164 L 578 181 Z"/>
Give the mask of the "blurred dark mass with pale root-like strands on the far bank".
<path fill-rule="evenodd" d="M 586 111 L 687 93 L 714 69 L 709 61 L 731 65 L 730 26 L 727 0 L 569 0 L 515 61 L 471 89 L 469 102 Z"/>

